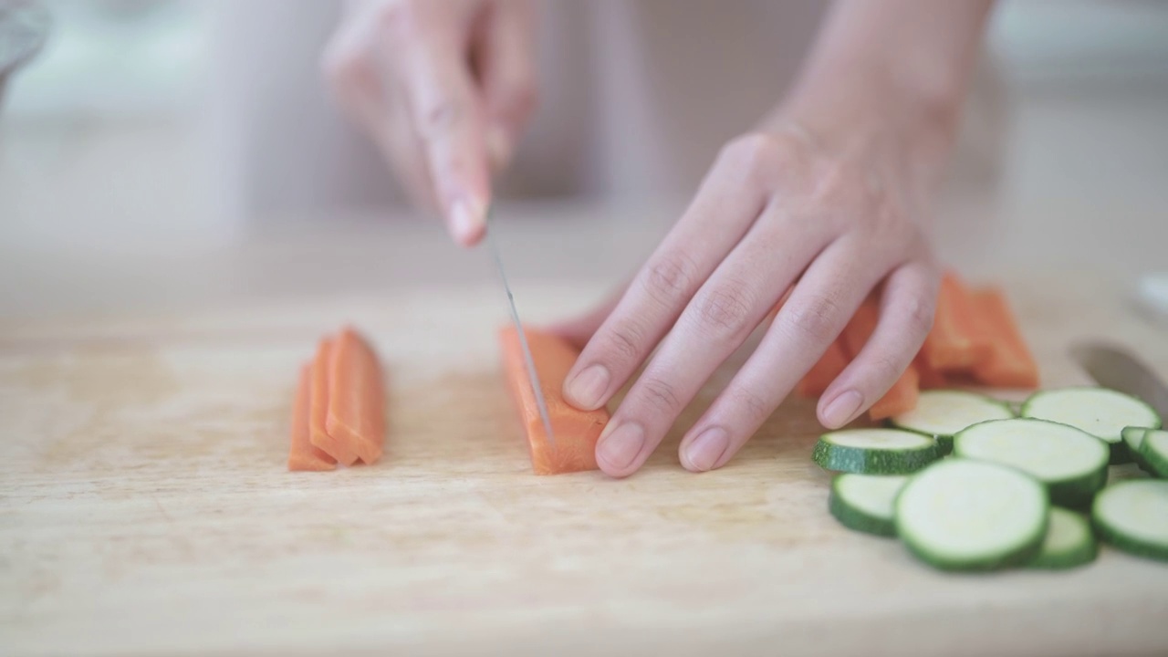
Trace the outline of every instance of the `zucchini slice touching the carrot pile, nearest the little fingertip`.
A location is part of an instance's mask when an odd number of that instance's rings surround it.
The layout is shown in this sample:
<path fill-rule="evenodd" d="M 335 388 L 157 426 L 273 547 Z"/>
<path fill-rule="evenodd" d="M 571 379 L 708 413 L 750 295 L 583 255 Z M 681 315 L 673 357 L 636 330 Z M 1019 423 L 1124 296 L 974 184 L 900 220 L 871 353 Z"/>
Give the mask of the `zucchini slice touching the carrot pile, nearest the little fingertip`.
<path fill-rule="evenodd" d="M 892 417 L 892 426 L 937 438 L 941 452 L 953 450 L 953 435 L 987 420 L 1007 420 L 1014 412 L 1003 402 L 965 390 L 925 390 L 917 407 Z"/>

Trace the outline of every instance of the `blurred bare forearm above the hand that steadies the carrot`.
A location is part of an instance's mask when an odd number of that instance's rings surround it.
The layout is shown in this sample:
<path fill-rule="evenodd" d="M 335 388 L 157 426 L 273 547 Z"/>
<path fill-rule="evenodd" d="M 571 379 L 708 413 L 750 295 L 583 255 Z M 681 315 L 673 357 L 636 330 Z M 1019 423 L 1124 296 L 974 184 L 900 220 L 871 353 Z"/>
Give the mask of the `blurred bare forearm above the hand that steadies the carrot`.
<path fill-rule="evenodd" d="M 778 115 L 815 136 L 881 131 L 930 170 L 948 155 L 993 0 L 837 0 Z"/>

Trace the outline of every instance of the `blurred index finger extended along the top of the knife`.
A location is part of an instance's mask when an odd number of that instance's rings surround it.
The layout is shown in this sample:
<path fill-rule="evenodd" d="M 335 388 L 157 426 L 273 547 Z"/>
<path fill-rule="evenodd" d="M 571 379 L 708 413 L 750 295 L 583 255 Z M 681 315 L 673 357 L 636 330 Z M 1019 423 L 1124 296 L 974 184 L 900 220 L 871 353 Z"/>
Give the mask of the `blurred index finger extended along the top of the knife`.
<path fill-rule="evenodd" d="M 491 175 L 481 102 L 459 34 L 431 34 L 398 53 L 410 117 L 447 227 L 459 243 L 475 244 L 486 229 Z"/>

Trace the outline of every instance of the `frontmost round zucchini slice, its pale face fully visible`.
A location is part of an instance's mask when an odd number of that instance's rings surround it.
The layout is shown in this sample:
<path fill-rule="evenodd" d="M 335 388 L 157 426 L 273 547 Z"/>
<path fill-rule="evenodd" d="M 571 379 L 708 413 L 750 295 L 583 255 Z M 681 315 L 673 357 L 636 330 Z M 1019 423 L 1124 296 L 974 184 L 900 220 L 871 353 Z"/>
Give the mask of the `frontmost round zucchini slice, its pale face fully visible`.
<path fill-rule="evenodd" d="M 1043 486 L 1013 468 L 946 459 L 904 485 L 896 530 L 912 554 L 936 568 L 996 569 L 1038 553 L 1049 507 Z"/>

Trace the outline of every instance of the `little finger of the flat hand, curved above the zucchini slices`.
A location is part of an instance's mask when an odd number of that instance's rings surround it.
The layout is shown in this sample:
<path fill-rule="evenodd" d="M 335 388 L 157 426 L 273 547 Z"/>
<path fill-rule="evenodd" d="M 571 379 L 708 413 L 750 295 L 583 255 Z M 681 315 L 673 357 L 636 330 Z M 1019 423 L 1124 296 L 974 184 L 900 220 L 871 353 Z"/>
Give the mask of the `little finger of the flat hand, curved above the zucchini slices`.
<path fill-rule="evenodd" d="M 871 338 L 820 397 L 819 419 L 835 429 L 876 403 L 912 362 L 933 325 L 940 274 L 926 261 L 896 269 L 881 295 Z"/>

